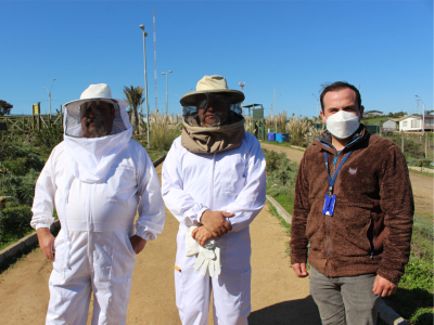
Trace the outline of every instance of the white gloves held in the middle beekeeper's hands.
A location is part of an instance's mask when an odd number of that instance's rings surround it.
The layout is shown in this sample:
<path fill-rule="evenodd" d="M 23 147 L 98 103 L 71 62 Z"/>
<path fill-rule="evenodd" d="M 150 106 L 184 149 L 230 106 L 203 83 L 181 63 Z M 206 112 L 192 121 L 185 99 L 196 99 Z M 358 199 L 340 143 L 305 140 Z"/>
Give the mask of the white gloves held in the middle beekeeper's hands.
<path fill-rule="evenodd" d="M 194 270 L 199 271 L 199 269 L 201 269 L 201 274 L 203 276 L 205 276 L 207 269 L 209 271 L 209 276 L 214 276 L 214 270 L 216 270 L 217 275 L 221 273 L 220 247 L 216 239 L 206 242 L 205 247 L 199 246 L 199 255 L 196 263 L 194 264 Z"/>

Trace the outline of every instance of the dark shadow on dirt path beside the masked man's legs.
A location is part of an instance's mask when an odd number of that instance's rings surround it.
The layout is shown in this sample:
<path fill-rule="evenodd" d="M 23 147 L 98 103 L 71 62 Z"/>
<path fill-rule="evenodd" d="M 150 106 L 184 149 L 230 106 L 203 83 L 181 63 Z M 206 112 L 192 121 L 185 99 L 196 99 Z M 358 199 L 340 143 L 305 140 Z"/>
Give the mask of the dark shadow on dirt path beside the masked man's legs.
<path fill-rule="evenodd" d="M 248 316 L 250 325 L 303 324 L 321 325 L 317 304 L 311 296 L 305 299 L 284 301 L 254 311 Z"/>

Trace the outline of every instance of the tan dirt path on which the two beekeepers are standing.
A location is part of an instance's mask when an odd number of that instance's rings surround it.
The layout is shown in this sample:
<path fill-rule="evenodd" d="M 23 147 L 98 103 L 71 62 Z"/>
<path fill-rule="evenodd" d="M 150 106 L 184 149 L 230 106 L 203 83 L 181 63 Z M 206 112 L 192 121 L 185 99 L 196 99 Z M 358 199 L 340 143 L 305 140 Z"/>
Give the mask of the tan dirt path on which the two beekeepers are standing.
<path fill-rule="evenodd" d="M 161 176 L 162 166 L 157 172 Z M 178 221 L 166 210 L 164 232 L 138 256 L 127 324 L 181 324 L 175 304 L 174 262 Z M 285 253 L 289 237 L 268 206 L 251 226 L 251 325 L 320 324 L 309 296 L 308 280 L 298 280 Z M 43 324 L 52 264 L 41 250 L 29 253 L 0 275 L 0 320 L 3 325 Z M 213 324 L 209 321 L 209 324 Z"/>

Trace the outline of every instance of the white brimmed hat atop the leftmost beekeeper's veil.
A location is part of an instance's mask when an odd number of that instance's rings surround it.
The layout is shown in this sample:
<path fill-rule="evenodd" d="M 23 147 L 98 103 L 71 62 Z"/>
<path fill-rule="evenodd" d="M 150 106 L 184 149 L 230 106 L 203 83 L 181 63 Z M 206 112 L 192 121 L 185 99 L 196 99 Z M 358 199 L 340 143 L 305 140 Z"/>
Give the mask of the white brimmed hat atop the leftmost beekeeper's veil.
<path fill-rule="evenodd" d="M 106 83 L 90 84 L 80 95 L 79 100 L 75 100 L 63 105 L 71 113 L 78 113 L 79 106 L 82 103 L 91 101 L 103 101 L 113 104 L 116 101 L 119 105 L 120 110 L 128 107 L 128 103 L 123 100 L 117 100 L 112 98 L 112 90 Z M 115 105 L 116 107 L 116 105 Z"/>

